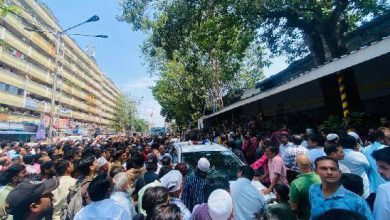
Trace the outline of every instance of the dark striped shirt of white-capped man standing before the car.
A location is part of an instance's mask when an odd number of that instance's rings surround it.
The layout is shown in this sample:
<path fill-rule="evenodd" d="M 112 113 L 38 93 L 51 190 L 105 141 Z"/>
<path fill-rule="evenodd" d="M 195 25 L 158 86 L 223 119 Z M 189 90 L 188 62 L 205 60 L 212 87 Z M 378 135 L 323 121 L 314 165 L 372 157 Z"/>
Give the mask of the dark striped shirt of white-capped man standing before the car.
<path fill-rule="evenodd" d="M 187 177 L 181 199 L 190 211 L 195 205 L 205 202 L 203 189 L 206 181 L 206 178 L 202 178 L 196 172 Z"/>

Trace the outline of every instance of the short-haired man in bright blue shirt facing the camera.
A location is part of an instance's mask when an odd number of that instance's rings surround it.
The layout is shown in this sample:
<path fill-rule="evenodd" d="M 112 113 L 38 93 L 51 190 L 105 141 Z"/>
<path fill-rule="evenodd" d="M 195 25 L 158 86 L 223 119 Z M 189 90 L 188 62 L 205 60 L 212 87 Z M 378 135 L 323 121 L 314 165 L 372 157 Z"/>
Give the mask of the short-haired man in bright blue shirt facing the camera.
<path fill-rule="evenodd" d="M 331 209 L 352 211 L 364 215 L 368 220 L 374 219 L 366 201 L 340 184 L 341 172 L 337 161 L 323 156 L 316 159 L 315 166 L 322 184 L 310 187 L 310 219 L 316 219 Z"/>

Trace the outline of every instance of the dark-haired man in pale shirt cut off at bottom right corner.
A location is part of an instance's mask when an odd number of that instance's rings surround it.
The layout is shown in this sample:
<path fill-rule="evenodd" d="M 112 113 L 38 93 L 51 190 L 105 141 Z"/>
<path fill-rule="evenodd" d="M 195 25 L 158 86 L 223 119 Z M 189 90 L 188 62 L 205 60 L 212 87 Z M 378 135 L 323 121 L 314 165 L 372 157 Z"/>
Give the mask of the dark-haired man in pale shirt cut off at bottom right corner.
<path fill-rule="evenodd" d="M 375 220 L 390 220 L 390 147 L 374 151 L 380 175 L 387 182 L 379 185 L 374 203 Z"/>

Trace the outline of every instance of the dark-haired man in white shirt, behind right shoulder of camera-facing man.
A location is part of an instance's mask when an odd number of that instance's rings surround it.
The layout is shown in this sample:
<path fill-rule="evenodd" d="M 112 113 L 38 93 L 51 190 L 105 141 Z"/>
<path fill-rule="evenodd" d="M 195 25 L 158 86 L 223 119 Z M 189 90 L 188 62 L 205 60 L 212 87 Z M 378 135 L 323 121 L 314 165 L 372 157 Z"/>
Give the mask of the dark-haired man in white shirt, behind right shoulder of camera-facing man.
<path fill-rule="evenodd" d="M 363 178 L 363 198 L 367 199 L 370 195 L 370 182 L 367 174 L 370 162 L 364 154 L 354 150 L 356 144 L 356 139 L 350 135 L 340 137 L 339 145 L 344 148 L 344 159 L 340 163 L 348 167 L 352 174 Z"/>

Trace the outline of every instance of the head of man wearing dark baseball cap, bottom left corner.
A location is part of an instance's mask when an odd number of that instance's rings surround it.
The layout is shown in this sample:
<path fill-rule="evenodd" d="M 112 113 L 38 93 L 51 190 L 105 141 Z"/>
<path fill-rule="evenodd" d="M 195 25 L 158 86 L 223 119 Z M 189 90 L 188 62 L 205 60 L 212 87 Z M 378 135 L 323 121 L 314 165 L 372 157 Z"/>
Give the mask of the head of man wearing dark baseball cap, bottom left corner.
<path fill-rule="evenodd" d="M 7 197 L 9 213 L 14 220 L 39 220 L 53 213 L 51 193 L 59 185 L 57 178 L 22 182 Z"/>

